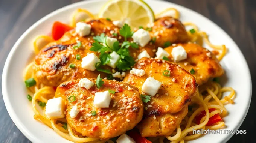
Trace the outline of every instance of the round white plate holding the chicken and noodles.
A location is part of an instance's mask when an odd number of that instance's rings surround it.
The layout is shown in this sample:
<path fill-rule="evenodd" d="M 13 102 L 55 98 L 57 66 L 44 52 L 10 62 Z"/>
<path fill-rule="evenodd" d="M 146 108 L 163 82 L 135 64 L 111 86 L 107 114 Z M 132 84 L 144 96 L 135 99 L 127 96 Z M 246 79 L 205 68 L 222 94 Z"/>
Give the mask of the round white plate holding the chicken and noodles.
<path fill-rule="evenodd" d="M 96 14 L 105 2 L 106 0 L 88 0 L 58 9 L 37 21 L 12 47 L 3 70 L 3 99 L 13 122 L 30 141 L 34 143 L 70 142 L 33 118 L 34 113 L 31 103 L 26 98 L 27 89 L 23 81 L 24 68 L 29 63 L 29 57 L 34 53 L 33 39 L 37 35 L 50 33 L 54 21 L 69 23 L 70 15 L 75 9 L 85 8 Z M 234 99 L 235 104 L 226 105 L 229 115 L 224 118 L 224 121 L 227 126 L 225 129 L 238 129 L 247 114 L 252 92 L 250 71 L 238 46 L 220 27 L 190 9 L 160 0 L 146 0 L 146 2 L 155 13 L 169 7 L 177 8 L 181 14 L 181 21 L 192 21 L 200 30 L 209 34 L 212 43 L 225 44 L 229 48 L 227 55 L 221 61 L 227 78 L 222 83 L 223 86 L 230 86 L 236 90 L 236 98 Z M 197 140 L 189 141 L 189 143 L 222 143 L 231 137 L 232 134 L 207 134 Z"/>

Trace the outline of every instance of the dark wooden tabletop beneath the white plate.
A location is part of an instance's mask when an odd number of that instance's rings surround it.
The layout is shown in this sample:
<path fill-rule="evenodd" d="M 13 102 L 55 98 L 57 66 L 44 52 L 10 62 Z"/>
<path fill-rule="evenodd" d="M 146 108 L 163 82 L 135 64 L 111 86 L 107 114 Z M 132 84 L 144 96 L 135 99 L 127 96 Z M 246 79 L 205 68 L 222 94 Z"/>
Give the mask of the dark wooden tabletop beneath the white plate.
<path fill-rule="evenodd" d="M 0 0 L 0 78 L 6 57 L 27 28 L 46 14 L 78 0 Z M 222 29 L 240 47 L 250 67 L 256 86 L 256 0 L 168 0 L 203 14 Z M 239 59 L 238 59 L 239 60 Z M 2 79 L 1 79 L 2 80 Z M 0 83 L 1 84 L 1 83 Z M 242 83 L 240 83 L 242 84 Z M 0 86 L 1 87 L 1 86 Z M 14 125 L 6 111 L 0 89 L 0 143 L 30 142 Z M 255 92 L 253 92 L 254 95 Z M 234 135 L 229 142 L 252 143 L 256 125 L 256 106 L 252 98 L 250 110 L 239 129 L 247 134 Z"/>

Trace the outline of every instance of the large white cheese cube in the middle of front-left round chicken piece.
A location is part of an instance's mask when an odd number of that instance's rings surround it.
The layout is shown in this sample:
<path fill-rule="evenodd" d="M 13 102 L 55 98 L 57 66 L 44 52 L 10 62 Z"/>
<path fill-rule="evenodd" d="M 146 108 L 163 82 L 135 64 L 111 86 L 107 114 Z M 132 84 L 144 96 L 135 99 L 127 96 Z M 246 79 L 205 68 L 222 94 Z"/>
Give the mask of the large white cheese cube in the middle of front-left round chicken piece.
<path fill-rule="evenodd" d="M 108 91 L 96 92 L 93 105 L 97 108 L 108 108 L 111 101 L 111 96 Z"/>

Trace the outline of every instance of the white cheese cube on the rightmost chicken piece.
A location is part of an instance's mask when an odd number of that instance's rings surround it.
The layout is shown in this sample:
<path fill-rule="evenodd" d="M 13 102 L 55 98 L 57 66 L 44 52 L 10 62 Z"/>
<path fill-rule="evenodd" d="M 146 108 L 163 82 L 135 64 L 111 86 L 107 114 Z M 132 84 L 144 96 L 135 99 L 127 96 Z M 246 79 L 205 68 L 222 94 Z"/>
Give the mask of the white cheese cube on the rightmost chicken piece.
<path fill-rule="evenodd" d="M 172 48 L 171 54 L 176 62 L 187 59 L 187 52 L 182 46 Z"/>

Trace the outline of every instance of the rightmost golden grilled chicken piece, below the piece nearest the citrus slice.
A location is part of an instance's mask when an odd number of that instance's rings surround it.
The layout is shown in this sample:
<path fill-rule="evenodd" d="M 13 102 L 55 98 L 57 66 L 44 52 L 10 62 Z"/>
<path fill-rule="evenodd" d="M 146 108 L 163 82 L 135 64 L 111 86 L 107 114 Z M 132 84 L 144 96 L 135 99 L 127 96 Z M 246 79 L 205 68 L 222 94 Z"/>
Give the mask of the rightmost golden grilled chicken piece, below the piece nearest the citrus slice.
<path fill-rule="evenodd" d="M 165 51 L 170 54 L 169 59 L 172 62 L 174 60 L 171 52 L 172 48 L 176 46 L 182 46 L 187 52 L 187 59 L 177 62 L 178 65 L 188 72 L 194 69 L 195 73 L 192 75 L 196 78 L 198 85 L 206 83 L 209 78 L 219 77 L 224 74 L 224 70 L 215 55 L 206 48 L 193 43 L 176 44 L 175 46 L 165 48 Z"/>

